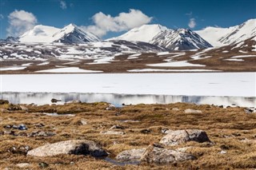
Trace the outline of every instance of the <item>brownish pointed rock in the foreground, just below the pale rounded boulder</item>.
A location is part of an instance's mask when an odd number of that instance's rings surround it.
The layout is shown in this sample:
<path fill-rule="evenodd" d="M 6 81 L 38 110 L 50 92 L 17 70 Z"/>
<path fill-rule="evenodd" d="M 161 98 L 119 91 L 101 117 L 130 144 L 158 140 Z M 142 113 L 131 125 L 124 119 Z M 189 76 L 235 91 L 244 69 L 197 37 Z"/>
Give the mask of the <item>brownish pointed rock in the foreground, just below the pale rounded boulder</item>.
<path fill-rule="evenodd" d="M 142 154 L 142 161 L 155 164 L 170 164 L 177 161 L 195 160 L 193 155 L 178 152 L 167 148 L 158 148 L 150 145 Z"/>

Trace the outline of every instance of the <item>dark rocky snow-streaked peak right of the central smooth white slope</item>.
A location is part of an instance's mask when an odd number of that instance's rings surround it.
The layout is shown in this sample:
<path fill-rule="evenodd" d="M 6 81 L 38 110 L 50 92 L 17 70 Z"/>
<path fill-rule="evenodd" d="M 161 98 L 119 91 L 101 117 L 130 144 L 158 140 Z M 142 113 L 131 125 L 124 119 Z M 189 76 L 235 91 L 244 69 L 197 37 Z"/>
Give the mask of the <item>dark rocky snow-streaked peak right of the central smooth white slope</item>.
<path fill-rule="evenodd" d="M 161 31 L 150 43 L 171 50 L 206 49 L 212 47 L 198 34 L 186 29 Z"/>

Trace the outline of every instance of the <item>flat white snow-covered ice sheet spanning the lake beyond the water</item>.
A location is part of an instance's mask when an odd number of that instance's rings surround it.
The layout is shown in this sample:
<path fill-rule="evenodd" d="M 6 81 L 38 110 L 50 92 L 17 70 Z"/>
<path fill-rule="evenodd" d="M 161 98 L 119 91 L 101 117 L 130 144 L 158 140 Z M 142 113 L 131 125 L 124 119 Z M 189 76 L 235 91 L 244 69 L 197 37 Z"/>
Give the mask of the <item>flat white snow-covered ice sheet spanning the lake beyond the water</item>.
<path fill-rule="evenodd" d="M 1 92 L 256 97 L 256 73 L 1 75 Z"/>

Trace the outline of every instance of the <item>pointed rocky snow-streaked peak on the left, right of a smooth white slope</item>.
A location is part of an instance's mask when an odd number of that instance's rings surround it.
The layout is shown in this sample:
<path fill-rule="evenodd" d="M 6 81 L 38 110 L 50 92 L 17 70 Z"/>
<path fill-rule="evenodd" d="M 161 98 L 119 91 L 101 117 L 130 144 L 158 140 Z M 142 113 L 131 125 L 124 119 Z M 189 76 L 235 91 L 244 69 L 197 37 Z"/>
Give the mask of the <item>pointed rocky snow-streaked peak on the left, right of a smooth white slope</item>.
<path fill-rule="evenodd" d="M 53 38 L 54 42 L 62 42 L 66 44 L 83 44 L 85 42 L 100 41 L 96 35 L 86 32 L 74 24 L 70 24 L 65 26 L 62 30 L 58 30 L 58 32 L 53 35 Z"/>

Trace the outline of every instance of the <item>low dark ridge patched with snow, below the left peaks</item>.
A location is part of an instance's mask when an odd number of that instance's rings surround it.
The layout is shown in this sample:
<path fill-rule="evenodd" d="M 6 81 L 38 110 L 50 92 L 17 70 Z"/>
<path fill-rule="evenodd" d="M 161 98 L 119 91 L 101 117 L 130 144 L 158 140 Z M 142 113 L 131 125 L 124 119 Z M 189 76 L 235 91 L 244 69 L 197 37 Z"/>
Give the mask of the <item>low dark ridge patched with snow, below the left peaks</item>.
<path fill-rule="evenodd" d="M 0 44 L 1 60 L 74 60 L 113 58 L 116 54 L 158 53 L 166 49 L 146 42 L 127 42 L 112 40 L 110 42 L 87 42 L 79 45 L 60 45 L 59 43 L 42 44 L 18 43 Z"/>

